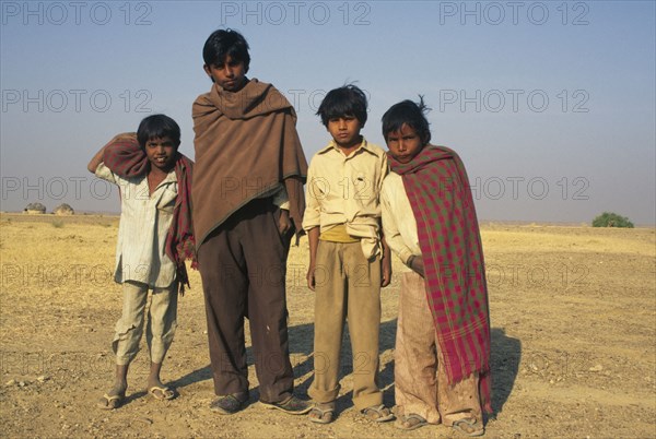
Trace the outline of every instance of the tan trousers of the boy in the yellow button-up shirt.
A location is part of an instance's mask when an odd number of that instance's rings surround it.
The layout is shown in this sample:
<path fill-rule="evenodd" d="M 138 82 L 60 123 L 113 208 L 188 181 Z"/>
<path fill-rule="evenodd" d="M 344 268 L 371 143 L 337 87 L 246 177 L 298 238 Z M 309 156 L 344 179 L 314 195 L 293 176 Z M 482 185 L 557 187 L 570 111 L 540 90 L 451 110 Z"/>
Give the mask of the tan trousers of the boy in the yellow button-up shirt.
<path fill-rule="evenodd" d="M 319 241 L 315 288 L 315 376 L 308 390 L 318 403 L 337 399 L 344 321 L 353 351 L 353 404 L 383 403 L 378 389 L 380 258 L 366 260 L 360 242 Z"/>

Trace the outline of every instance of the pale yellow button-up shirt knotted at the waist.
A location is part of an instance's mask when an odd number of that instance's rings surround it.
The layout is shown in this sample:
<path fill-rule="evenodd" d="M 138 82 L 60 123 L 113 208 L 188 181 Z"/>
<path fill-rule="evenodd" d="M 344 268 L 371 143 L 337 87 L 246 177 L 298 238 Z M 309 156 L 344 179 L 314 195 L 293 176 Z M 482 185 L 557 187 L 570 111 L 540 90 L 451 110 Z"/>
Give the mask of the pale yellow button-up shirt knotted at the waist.
<path fill-rule="evenodd" d="M 303 228 L 320 233 L 345 224 L 360 239 L 365 258 L 379 253 L 380 188 L 388 173 L 379 146 L 362 144 L 347 156 L 333 141 L 312 158 L 307 170 Z"/>

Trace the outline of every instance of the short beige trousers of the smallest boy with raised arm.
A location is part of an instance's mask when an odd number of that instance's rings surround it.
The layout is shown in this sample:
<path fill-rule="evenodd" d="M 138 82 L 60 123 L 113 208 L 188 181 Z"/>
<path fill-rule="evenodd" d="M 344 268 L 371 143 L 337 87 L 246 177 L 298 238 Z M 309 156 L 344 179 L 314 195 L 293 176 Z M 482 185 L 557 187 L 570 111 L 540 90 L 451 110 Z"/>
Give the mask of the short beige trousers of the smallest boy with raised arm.
<path fill-rule="evenodd" d="M 148 285 L 141 282 L 126 281 L 122 284 L 122 316 L 116 322 L 116 333 L 112 347 L 117 365 L 129 365 L 139 352 L 139 342 L 143 334 Z M 154 288 L 148 309 L 145 342 L 151 361 L 162 363 L 173 343 L 177 328 L 177 282 L 166 288 Z"/>

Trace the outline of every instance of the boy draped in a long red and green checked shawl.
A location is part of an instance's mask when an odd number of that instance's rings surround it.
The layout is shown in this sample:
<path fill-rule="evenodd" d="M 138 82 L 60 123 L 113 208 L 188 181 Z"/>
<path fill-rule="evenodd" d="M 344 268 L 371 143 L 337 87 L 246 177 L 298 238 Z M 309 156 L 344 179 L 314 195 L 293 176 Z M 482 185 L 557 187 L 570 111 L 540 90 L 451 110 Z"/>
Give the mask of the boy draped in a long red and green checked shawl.
<path fill-rule="evenodd" d="M 403 273 L 395 349 L 397 427 L 442 424 L 483 435 L 490 407 L 490 320 L 480 233 L 458 155 L 429 142 L 419 105 L 383 116 L 391 173 L 383 227 Z M 480 387 L 480 396 L 479 396 Z"/>

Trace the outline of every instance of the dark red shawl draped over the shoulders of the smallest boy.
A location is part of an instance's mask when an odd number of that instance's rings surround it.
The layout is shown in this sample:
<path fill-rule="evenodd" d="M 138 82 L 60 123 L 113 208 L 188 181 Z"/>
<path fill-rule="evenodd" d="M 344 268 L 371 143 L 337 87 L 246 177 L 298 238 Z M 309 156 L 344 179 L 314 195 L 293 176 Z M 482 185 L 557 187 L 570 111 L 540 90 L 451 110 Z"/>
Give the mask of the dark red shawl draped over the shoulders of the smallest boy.
<path fill-rule="evenodd" d="M 105 146 L 103 162 L 113 173 L 124 178 L 145 176 L 150 170 L 150 162 L 139 146 L 137 133 L 118 134 Z M 185 285 L 189 286 L 189 276 L 185 260 L 191 260 L 196 269 L 196 242 L 191 224 L 191 174 L 194 162 L 176 152 L 175 176 L 178 183 L 178 194 L 173 209 L 173 221 L 166 235 L 164 251 L 175 262 L 180 294 Z"/>

